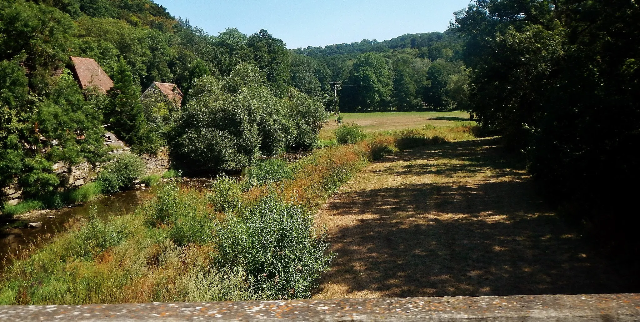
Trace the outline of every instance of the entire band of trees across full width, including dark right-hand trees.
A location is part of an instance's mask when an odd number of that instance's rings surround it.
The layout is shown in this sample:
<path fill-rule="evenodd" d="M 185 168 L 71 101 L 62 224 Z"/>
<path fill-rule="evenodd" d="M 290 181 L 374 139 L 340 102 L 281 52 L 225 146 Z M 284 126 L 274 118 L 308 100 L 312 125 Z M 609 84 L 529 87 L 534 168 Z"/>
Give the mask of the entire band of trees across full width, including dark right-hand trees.
<path fill-rule="evenodd" d="M 341 82 L 340 111 L 474 113 L 550 200 L 638 252 L 623 187 L 638 176 L 639 22 L 632 0 L 477 0 L 444 33 L 290 50 L 266 30 L 207 35 L 148 0 L 3 1 L 0 185 L 54 191 L 52 163 L 104 156 L 104 124 L 193 174 L 310 149 Z M 52 77 L 69 56 L 95 58 L 113 90 Z M 182 109 L 140 102 L 152 81 L 176 83 Z"/>

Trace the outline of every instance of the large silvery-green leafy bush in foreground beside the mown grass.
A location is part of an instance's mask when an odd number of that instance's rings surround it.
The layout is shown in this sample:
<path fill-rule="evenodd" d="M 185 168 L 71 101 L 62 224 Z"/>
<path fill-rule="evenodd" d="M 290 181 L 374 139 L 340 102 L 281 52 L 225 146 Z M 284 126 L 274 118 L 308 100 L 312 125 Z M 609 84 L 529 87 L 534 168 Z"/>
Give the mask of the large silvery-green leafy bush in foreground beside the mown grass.
<path fill-rule="evenodd" d="M 327 245 L 315 238 L 313 216 L 302 207 L 267 197 L 216 229 L 220 266 L 241 268 L 263 299 L 309 298 L 326 271 Z"/>

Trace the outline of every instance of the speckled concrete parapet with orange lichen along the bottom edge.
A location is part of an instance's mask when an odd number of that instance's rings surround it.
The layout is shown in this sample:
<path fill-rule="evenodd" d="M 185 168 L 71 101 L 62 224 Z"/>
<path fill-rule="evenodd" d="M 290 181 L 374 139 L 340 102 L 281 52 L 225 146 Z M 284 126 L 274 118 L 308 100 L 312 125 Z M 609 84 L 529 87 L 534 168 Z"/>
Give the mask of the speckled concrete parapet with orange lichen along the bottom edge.
<path fill-rule="evenodd" d="M 640 321 L 640 294 L 0 306 L 0 321 Z"/>

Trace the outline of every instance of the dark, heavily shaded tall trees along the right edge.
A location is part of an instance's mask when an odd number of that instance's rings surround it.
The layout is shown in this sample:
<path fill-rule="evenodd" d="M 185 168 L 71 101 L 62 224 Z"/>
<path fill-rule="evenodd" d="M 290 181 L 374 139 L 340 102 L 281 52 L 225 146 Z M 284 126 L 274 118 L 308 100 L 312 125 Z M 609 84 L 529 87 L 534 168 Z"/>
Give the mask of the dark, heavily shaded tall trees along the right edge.
<path fill-rule="evenodd" d="M 458 13 L 472 111 L 525 152 L 550 200 L 638 258 L 640 8 L 635 1 L 476 1 Z M 623 118 L 620 115 L 624 115 Z"/>

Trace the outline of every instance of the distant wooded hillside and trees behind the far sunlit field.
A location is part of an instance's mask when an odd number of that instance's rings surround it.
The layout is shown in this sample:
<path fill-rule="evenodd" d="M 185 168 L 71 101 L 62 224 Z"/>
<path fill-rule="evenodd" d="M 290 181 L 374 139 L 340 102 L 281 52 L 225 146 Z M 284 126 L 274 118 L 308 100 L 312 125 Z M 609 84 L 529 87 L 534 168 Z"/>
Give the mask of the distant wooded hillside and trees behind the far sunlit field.
<path fill-rule="evenodd" d="M 292 82 L 326 97 L 330 109 L 330 82 L 342 82 L 340 111 L 466 109 L 469 70 L 462 47 L 461 38 L 447 31 L 296 49 Z"/>

